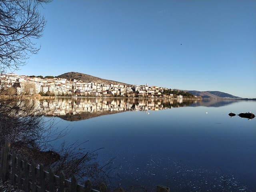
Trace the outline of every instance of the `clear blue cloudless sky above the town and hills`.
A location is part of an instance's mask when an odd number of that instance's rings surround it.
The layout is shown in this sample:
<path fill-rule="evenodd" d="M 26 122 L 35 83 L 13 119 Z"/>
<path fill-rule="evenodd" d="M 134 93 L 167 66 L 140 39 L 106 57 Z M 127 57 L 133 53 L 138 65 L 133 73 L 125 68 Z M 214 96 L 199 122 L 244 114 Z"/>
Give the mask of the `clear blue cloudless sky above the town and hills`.
<path fill-rule="evenodd" d="M 19 75 L 80 72 L 256 98 L 255 0 L 54 0 Z"/>

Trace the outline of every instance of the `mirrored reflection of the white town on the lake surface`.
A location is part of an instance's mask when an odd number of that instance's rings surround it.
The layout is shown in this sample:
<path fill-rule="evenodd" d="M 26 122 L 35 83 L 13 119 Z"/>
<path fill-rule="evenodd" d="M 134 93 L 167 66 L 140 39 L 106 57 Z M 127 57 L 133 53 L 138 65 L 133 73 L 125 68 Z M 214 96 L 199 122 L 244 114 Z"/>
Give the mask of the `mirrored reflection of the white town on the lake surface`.
<path fill-rule="evenodd" d="M 69 121 L 84 120 L 96 116 L 114 114 L 125 111 L 164 110 L 183 106 L 215 106 L 226 105 L 235 100 L 195 100 L 195 99 L 151 99 L 151 98 L 64 98 L 44 99 L 40 108 L 46 116 L 59 116 Z"/>

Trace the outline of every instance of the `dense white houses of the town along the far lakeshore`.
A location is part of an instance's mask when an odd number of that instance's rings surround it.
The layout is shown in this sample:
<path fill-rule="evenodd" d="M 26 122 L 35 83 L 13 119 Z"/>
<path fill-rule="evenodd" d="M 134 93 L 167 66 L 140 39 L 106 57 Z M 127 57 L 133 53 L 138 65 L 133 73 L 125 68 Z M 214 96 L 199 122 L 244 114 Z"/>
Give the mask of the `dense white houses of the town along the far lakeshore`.
<path fill-rule="evenodd" d="M 0 90 L 12 88 L 14 94 L 48 94 L 52 96 L 93 96 L 93 97 L 165 97 L 172 98 L 173 95 L 163 95 L 164 89 L 158 86 L 146 85 L 120 85 L 103 84 L 94 82 L 82 82 L 79 80 L 68 80 L 64 78 L 39 78 L 14 73 L 0 74 Z M 182 98 L 182 95 L 176 96 Z"/>

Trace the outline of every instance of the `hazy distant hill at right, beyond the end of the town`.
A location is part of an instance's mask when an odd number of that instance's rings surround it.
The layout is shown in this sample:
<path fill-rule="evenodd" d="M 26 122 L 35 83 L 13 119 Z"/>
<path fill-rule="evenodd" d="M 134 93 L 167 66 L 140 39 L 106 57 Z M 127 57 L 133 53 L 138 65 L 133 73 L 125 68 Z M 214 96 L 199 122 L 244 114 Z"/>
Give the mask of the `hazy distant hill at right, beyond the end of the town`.
<path fill-rule="evenodd" d="M 220 92 L 220 91 L 189 91 L 189 90 L 182 90 L 184 92 L 189 92 L 195 96 L 201 96 L 202 98 L 210 98 L 210 99 L 222 99 L 222 98 L 232 98 L 232 99 L 241 99 L 240 97 Z"/>

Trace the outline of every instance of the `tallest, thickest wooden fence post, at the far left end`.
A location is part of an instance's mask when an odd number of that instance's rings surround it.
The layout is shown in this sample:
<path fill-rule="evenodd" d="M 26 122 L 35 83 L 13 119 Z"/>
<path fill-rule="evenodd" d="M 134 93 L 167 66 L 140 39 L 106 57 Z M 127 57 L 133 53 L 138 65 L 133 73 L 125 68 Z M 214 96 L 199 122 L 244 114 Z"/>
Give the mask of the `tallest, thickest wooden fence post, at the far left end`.
<path fill-rule="evenodd" d="M 6 181 L 8 179 L 8 173 L 9 173 L 9 155 L 10 155 L 10 149 L 11 149 L 11 142 L 5 141 L 4 148 L 2 149 L 2 180 Z M 4 152 L 4 154 L 3 154 Z"/>

